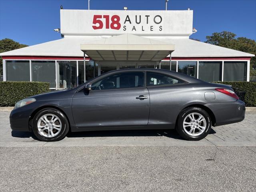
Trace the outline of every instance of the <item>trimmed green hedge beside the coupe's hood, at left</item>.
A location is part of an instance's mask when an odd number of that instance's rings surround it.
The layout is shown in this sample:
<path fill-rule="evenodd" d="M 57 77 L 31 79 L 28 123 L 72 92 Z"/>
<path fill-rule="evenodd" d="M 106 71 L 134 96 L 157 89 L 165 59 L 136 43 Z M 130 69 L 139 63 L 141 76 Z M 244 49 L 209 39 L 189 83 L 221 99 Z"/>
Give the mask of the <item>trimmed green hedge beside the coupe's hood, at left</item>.
<path fill-rule="evenodd" d="M 0 82 L 0 107 L 14 106 L 16 102 L 41 93 L 50 91 L 48 82 Z"/>

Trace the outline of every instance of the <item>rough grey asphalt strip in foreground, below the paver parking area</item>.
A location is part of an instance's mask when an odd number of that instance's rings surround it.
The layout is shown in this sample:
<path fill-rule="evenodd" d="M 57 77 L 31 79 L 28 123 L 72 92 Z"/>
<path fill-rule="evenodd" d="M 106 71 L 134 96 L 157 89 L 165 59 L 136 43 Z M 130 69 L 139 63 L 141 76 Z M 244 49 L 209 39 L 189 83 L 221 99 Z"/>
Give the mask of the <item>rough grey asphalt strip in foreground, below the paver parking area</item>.
<path fill-rule="evenodd" d="M 1 147 L 0 190 L 251 191 L 255 147 Z"/>

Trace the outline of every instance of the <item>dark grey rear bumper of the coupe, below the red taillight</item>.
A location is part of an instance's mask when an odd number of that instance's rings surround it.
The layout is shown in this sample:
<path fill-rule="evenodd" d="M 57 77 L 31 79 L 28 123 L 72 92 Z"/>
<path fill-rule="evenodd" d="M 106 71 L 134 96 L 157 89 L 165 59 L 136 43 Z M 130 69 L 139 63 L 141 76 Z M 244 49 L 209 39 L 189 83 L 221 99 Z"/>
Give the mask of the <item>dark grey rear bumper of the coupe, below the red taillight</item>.
<path fill-rule="evenodd" d="M 216 118 L 216 126 L 241 122 L 245 116 L 245 103 L 235 102 L 206 104 Z"/>

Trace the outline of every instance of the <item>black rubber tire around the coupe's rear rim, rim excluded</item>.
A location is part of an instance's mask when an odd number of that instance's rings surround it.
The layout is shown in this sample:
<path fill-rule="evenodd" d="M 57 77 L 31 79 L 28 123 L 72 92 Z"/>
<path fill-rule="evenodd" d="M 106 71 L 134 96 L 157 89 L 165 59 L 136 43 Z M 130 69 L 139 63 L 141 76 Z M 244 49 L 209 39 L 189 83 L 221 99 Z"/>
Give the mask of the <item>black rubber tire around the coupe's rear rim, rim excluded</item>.
<path fill-rule="evenodd" d="M 205 130 L 198 136 L 192 136 L 190 134 L 188 134 L 184 128 L 183 128 L 183 122 L 184 122 L 184 119 L 186 118 L 186 116 L 188 114 L 191 114 L 191 113 L 199 113 L 201 114 L 202 116 L 204 116 L 205 120 L 206 120 L 206 128 Z M 201 109 L 201 108 L 198 108 L 198 107 L 190 107 L 190 108 L 186 108 L 184 110 L 182 110 L 178 116 L 178 123 L 177 123 L 177 126 L 176 126 L 176 130 L 178 132 L 178 134 L 186 139 L 186 140 L 190 140 L 190 141 L 198 141 L 198 140 L 201 140 L 203 138 L 205 138 L 210 130 L 211 130 L 211 127 L 212 127 L 212 121 L 211 121 L 211 118 L 209 116 L 209 114 Z"/>

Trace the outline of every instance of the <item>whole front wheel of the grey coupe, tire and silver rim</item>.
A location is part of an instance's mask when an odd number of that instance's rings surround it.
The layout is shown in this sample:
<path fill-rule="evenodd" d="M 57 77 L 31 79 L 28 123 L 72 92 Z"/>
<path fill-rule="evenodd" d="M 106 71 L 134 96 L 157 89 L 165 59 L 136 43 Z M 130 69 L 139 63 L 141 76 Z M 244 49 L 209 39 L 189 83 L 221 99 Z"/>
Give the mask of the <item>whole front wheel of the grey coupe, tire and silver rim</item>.
<path fill-rule="evenodd" d="M 68 130 L 69 124 L 66 116 L 54 108 L 40 110 L 33 119 L 32 132 L 40 141 L 62 140 Z"/>

